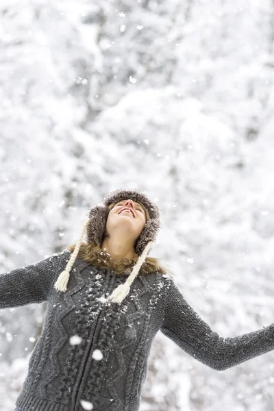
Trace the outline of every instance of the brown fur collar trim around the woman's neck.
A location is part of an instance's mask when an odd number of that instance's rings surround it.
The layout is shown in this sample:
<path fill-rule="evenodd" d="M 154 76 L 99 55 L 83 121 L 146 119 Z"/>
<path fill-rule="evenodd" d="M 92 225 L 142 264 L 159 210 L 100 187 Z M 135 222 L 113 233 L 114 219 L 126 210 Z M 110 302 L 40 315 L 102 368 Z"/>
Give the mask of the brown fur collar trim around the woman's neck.
<path fill-rule="evenodd" d="M 75 249 L 75 244 L 66 247 L 69 251 L 73 253 Z M 80 245 L 77 258 L 81 258 L 84 261 L 90 262 L 90 264 L 99 266 L 103 269 L 110 269 L 116 271 L 116 275 L 128 276 L 133 269 L 133 266 L 138 261 L 138 254 L 134 256 L 133 259 L 123 258 L 119 262 L 114 262 L 112 257 L 106 251 L 103 251 L 99 245 L 95 246 L 92 242 L 88 244 L 82 242 Z M 158 260 L 155 258 L 147 257 L 145 262 L 142 264 L 139 273 L 149 274 L 158 271 L 165 274 L 166 270 L 157 264 Z"/>

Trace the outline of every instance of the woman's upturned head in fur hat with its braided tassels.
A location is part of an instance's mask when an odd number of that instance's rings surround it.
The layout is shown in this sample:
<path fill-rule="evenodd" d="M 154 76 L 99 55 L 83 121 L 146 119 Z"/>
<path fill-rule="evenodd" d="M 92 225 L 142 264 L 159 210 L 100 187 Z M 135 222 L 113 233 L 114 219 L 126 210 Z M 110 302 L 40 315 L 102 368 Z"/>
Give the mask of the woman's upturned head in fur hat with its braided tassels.
<path fill-rule="evenodd" d="M 138 205 L 142 208 L 138 209 Z M 129 211 L 123 211 L 123 209 L 129 209 Z M 147 210 L 148 214 L 144 214 L 142 209 Z M 140 190 L 127 189 L 118 189 L 108 193 L 103 203 L 94 206 L 88 212 L 88 219 L 82 227 L 73 251 L 73 246 L 68 247 L 72 255 L 64 271 L 58 276 L 54 284 L 55 289 L 66 291 L 70 271 L 83 248 L 82 238 L 84 232 L 87 231 L 88 246 L 102 247 L 100 253 L 104 257 L 108 256 L 112 263 L 125 260 L 134 261 L 132 272 L 125 283 L 117 286 L 108 297 L 108 301 L 121 304 L 129 294 L 130 286 L 142 266 L 147 263 L 147 255 L 155 242 L 160 226 L 160 211 L 145 193 Z M 153 268 L 155 268 L 154 271 L 160 269 L 157 262 Z"/>

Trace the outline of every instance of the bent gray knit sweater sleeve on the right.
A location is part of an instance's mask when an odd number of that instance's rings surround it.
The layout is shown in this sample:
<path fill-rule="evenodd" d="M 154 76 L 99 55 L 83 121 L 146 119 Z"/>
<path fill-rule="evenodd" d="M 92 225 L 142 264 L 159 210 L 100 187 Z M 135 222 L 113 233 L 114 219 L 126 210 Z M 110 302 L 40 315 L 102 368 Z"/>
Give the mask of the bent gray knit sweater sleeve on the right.
<path fill-rule="evenodd" d="M 173 279 L 166 295 L 162 333 L 203 364 L 223 371 L 274 349 L 274 324 L 223 338 L 184 299 Z"/>

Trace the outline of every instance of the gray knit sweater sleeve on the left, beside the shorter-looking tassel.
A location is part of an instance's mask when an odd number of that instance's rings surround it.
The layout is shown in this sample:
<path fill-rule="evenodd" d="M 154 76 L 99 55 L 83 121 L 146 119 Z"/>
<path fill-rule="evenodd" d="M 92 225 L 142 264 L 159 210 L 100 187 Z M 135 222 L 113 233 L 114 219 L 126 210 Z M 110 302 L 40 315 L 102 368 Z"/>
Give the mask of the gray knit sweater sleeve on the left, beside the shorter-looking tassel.
<path fill-rule="evenodd" d="M 65 256 L 64 251 L 54 253 L 45 260 L 0 274 L 0 308 L 47 301 L 53 279 L 57 279 L 55 273 Z"/>

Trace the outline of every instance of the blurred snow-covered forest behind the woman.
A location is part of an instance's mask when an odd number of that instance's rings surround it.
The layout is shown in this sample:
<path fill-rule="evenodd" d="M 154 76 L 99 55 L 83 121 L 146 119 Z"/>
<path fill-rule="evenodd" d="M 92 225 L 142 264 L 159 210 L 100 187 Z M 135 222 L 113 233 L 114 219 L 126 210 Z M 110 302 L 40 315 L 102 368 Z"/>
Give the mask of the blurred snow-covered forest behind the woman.
<path fill-rule="evenodd" d="M 155 201 L 150 256 L 221 336 L 274 322 L 274 1 L 2 0 L 1 273 L 77 240 L 116 188 Z M 1 290 L 0 290 L 1 298 Z M 46 303 L 0 310 L 15 408 Z M 274 351 L 215 371 L 161 332 L 140 411 L 272 411 Z"/>

